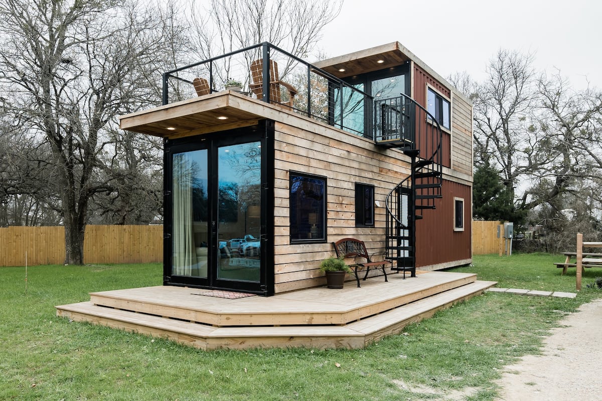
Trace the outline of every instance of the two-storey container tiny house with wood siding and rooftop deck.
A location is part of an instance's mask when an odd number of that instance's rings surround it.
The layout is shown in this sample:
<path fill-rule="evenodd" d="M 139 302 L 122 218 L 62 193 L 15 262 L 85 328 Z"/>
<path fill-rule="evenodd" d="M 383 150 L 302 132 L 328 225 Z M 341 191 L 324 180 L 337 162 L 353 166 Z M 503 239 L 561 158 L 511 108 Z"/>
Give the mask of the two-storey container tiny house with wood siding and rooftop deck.
<path fill-rule="evenodd" d="M 344 237 L 408 280 L 470 263 L 471 120 L 400 43 L 314 64 L 262 43 L 164 73 L 120 127 L 164 140 L 163 283 L 269 296 L 323 285 Z"/>

